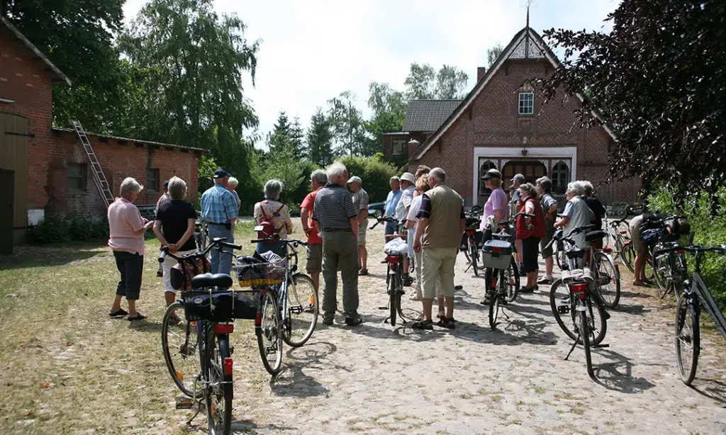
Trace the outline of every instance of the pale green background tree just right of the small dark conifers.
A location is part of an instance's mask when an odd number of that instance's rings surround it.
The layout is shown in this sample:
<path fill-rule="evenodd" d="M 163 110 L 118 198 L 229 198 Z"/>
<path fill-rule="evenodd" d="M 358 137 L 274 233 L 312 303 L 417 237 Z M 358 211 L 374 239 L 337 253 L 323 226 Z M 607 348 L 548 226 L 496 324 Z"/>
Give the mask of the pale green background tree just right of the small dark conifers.
<path fill-rule="evenodd" d="M 327 101 L 328 119 L 333 128 L 333 138 L 339 154 L 362 154 L 365 141 L 363 115 L 355 107 L 356 94 L 343 91 L 340 96 Z"/>

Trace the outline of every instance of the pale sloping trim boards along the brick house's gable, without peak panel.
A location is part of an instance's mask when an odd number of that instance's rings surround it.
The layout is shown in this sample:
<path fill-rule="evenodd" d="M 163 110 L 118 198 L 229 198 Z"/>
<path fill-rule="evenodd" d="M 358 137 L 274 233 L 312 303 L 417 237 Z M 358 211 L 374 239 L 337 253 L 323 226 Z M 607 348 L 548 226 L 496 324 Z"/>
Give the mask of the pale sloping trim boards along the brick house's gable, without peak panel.
<path fill-rule="evenodd" d="M 510 49 L 507 50 L 506 53 L 502 53 L 501 55 L 499 55 L 497 62 L 494 63 L 494 67 L 492 67 L 492 69 L 486 73 L 486 78 L 484 78 L 484 81 L 479 83 L 478 87 L 473 89 L 473 91 L 472 91 L 473 94 L 470 94 L 467 97 L 467 99 L 465 99 L 462 102 L 462 104 L 460 104 L 460 106 L 457 107 L 456 110 L 454 110 L 454 114 L 455 114 L 454 117 L 450 117 L 449 121 L 446 122 L 444 127 L 439 128 L 439 130 L 437 130 L 438 133 L 431 136 L 431 138 L 428 138 L 428 141 L 426 141 L 425 146 L 418 149 L 417 152 L 411 157 L 412 160 L 417 160 L 417 159 L 420 159 L 421 157 L 423 157 L 428 152 L 428 150 L 431 149 L 433 144 L 435 144 L 436 141 L 438 141 L 441 138 L 441 136 L 443 136 L 444 133 L 446 133 L 446 130 L 449 130 L 449 128 L 451 128 L 451 126 L 454 125 L 454 123 L 459 119 L 461 114 L 463 112 L 465 112 L 465 110 L 468 109 L 468 107 L 473 103 L 473 101 L 477 99 L 479 94 L 481 94 L 481 91 L 486 87 L 486 84 L 489 83 L 489 80 L 492 77 L 494 77 L 494 75 L 497 74 L 499 67 L 501 67 L 507 59 L 510 59 L 510 57 L 512 57 L 512 54 L 514 53 L 515 49 L 517 49 L 517 47 L 522 43 L 523 39 L 525 39 L 525 38 L 529 38 L 529 43 L 534 44 L 534 46 L 536 46 L 537 49 L 539 49 L 539 51 L 544 54 L 544 58 L 550 62 L 552 67 L 555 67 L 555 68 L 560 67 L 560 61 L 557 58 L 552 56 L 552 52 L 549 49 L 547 49 L 546 47 L 542 46 L 542 44 L 539 43 L 539 41 L 540 41 L 539 36 L 534 35 L 532 33 L 531 29 L 527 28 L 526 31 L 523 32 L 522 35 L 517 39 L 517 41 L 515 41 L 515 43 L 510 44 Z M 581 93 L 577 93 L 576 96 L 581 102 L 584 101 L 584 96 Z M 602 125 L 602 127 L 605 128 L 605 132 L 608 133 L 608 135 L 610 135 L 611 138 L 613 138 L 613 141 L 617 141 L 615 134 L 613 133 L 613 131 L 610 128 L 608 128 L 607 125 L 605 125 L 605 123 L 603 122 L 603 119 L 594 111 L 592 111 L 591 113 L 592 113 L 592 116 L 597 118 L 597 120 L 600 120 L 600 125 Z"/>

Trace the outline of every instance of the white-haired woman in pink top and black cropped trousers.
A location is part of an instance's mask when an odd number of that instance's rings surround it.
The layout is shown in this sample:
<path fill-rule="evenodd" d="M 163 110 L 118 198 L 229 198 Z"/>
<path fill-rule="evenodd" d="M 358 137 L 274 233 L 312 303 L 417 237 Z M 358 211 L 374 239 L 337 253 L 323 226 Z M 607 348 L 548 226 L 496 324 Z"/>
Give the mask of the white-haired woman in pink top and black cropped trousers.
<path fill-rule="evenodd" d="M 146 318 L 136 311 L 136 301 L 141 293 L 141 278 L 144 272 L 144 233 L 154 225 L 153 221 L 142 218 L 134 201 L 144 186 L 134 178 L 126 178 L 121 183 L 121 198 L 108 206 L 108 246 L 113 249 L 116 268 L 121 273 L 121 281 L 116 286 L 116 297 L 111 306 L 111 317 L 129 315 L 127 320 Z M 121 298 L 129 302 L 129 312 L 121 308 Z"/>

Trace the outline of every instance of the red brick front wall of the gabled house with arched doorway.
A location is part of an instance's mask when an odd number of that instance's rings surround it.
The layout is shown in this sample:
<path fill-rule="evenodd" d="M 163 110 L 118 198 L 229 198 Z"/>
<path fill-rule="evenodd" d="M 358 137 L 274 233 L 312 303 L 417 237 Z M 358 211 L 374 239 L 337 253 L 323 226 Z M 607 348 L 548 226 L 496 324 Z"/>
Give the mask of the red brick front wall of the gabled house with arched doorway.
<path fill-rule="evenodd" d="M 545 71 L 547 68 L 547 71 Z M 576 178 L 589 180 L 597 188 L 603 202 L 637 201 L 640 182 L 635 180 L 598 186 L 605 181 L 608 147 L 613 143 L 602 128 L 584 130 L 578 127 L 574 109 L 579 100 L 573 96 L 565 102 L 550 102 L 542 107 L 537 94 L 534 115 L 518 115 L 518 90 L 529 79 L 552 70 L 543 60 L 509 60 L 489 79 L 486 87 L 469 109 L 444 133 L 420 160 L 420 164 L 440 166 L 446 170 L 448 184 L 470 204 L 473 182 L 473 149 L 475 147 L 529 148 L 576 146 Z M 560 94 L 560 98 L 561 98 Z"/>

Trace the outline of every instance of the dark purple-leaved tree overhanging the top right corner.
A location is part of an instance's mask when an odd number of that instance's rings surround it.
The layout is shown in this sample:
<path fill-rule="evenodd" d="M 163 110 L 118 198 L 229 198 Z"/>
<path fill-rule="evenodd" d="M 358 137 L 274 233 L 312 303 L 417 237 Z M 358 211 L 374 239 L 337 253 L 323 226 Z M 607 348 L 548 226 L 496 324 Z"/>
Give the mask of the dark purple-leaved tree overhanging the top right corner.
<path fill-rule="evenodd" d="M 720 0 L 631 0 L 608 15 L 611 33 L 547 30 L 565 59 L 544 97 L 587 89 L 582 126 L 616 133 L 611 178 L 662 183 L 677 199 L 726 185 L 726 8 Z M 594 115 L 599 114 L 599 115 Z M 717 202 L 712 201 L 712 204 Z"/>

